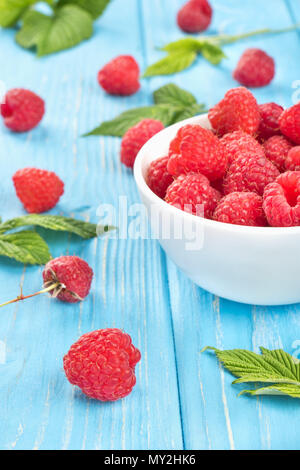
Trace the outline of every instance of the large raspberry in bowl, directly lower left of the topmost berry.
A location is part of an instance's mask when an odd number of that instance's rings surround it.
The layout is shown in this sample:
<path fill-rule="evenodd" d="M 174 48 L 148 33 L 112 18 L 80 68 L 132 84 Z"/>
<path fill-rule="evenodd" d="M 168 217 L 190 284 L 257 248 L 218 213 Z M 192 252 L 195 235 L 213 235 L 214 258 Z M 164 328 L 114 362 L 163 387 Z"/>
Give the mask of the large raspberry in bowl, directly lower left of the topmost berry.
<path fill-rule="evenodd" d="M 188 124 L 179 129 L 170 144 L 167 168 L 173 176 L 202 173 L 213 181 L 224 175 L 227 158 L 211 131 Z"/>

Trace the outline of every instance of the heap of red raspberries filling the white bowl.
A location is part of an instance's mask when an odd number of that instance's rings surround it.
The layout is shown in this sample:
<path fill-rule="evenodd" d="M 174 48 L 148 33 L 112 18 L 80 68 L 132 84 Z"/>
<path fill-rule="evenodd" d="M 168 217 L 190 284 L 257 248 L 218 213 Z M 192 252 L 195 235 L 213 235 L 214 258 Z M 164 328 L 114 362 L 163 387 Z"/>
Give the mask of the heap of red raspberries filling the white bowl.
<path fill-rule="evenodd" d="M 169 204 L 219 222 L 300 226 L 300 103 L 284 110 L 229 90 L 208 113 L 212 130 L 185 125 L 148 169 Z"/>

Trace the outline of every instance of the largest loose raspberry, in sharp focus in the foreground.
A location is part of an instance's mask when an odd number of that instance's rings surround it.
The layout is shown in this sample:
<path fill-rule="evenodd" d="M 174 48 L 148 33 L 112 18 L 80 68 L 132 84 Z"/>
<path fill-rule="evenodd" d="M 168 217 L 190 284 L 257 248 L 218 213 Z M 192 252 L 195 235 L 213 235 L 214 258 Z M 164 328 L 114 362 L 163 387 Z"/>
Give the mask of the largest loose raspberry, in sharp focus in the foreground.
<path fill-rule="evenodd" d="M 64 370 L 69 382 L 88 397 L 115 401 L 131 393 L 140 359 L 128 334 L 106 328 L 81 336 L 65 355 Z"/>

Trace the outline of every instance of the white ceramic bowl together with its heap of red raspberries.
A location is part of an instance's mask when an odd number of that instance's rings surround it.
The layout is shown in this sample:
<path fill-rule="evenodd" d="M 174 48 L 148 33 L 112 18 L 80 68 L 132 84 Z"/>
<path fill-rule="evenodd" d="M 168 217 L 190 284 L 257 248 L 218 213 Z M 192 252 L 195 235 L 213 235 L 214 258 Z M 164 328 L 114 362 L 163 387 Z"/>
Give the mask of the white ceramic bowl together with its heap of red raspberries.
<path fill-rule="evenodd" d="M 152 137 L 134 175 L 154 237 L 196 284 L 248 304 L 300 302 L 300 103 L 231 89 Z"/>

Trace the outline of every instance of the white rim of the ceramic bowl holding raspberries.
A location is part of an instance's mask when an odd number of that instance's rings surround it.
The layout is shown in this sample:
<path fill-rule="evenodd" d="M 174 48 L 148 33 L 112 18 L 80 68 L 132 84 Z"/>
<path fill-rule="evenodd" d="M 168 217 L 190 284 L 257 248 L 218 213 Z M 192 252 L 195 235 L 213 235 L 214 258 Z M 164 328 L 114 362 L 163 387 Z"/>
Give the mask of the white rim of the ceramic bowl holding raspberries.
<path fill-rule="evenodd" d="M 143 161 L 147 153 L 149 153 L 149 149 L 151 148 L 154 141 L 159 141 L 160 138 L 164 137 L 164 133 L 166 133 L 169 129 L 179 129 L 180 127 L 186 124 L 198 124 L 197 119 L 199 117 L 205 118 L 207 117 L 207 113 L 199 114 L 189 119 L 185 119 L 183 121 L 177 122 L 176 124 L 172 124 L 171 126 L 165 127 L 162 131 L 155 134 L 151 139 L 149 139 L 146 144 L 140 149 L 134 163 L 133 174 L 134 179 L 137 184 L 137 187 L 141 193 L 145 195 L 145 197 L 150 200 L 153 205 L 161 206 L 162 209 L 170 211 L 173 213 L 174 216 L 177 214 L 178 216 L 184 217 L 187 221 L 195 222 L 195 220 L 199 220 L 199 223 L 203 224 L 203 226 L 207 226 L 210 228 L 215 228 L 216 230 L 226 230 L 230 232 L 241 232 L 244 234 L 253 234 L 253 235 L 263 235 L 263 236 L 274 236 L 274 235 L 291 235 L 291 234 L 300 234 L 300 226 L 295 227 L 252 227 L 249 225 L 236 225 L 236 224 L 228 224 L 226 222 L 219 222 L 216 220 L 205 219 L 204 217 L 198 217 L 194 214 L 190 214 L 185 212 L 177 207 L 171 206 L 166 201 L 158 197 L 147 185 L 146 178 L 143 175 Z M 159 157 L 158 157 L 159 158 Z"/>

